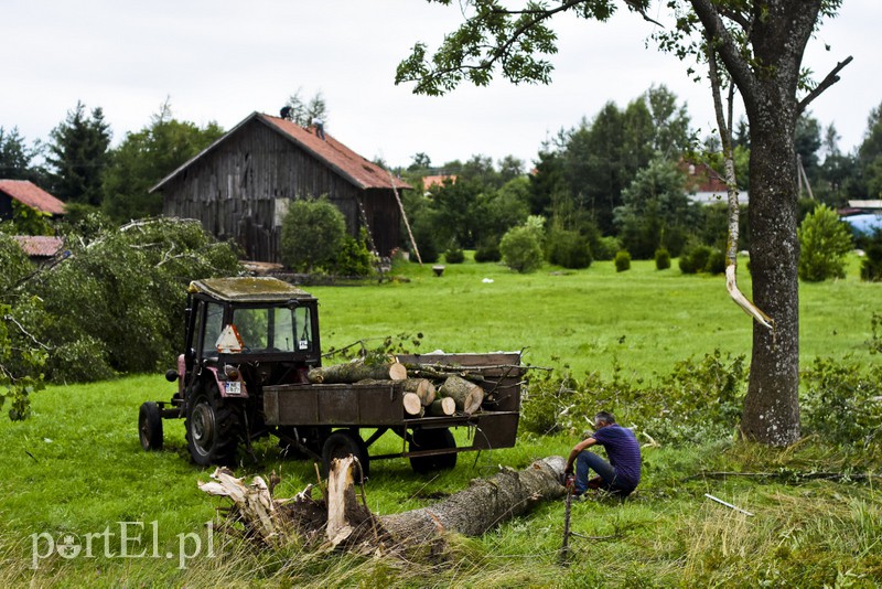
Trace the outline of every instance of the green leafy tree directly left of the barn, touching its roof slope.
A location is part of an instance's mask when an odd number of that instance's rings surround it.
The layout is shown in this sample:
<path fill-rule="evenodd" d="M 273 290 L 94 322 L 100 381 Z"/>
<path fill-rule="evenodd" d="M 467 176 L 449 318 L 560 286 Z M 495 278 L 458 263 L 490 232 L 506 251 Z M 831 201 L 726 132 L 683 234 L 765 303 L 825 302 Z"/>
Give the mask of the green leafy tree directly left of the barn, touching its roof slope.
<path fill-rule="evenodd" d="M 162 195 L 151 194 L 150 189 L 222 135 L 216 122 L 200 128 L 175 120 L 166 100 L 150 125 L 126 133 L 111 151 L 104 175 L 104 212 L 117 223 L 161 214 Z"/>

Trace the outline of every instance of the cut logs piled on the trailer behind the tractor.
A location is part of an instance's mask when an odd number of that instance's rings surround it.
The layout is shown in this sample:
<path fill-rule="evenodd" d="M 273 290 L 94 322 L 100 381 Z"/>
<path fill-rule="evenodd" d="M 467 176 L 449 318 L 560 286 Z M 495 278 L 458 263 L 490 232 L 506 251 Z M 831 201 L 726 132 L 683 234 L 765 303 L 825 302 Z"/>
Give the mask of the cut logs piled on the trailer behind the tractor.
<path fill-rule="evenodd" d="M 344 364 L 322 366 L 309 372 L 313 384 L 386 384 L 400 383 L 405 417 L 445 417 L 456 411 L 472 415 L 481 410 L 485 399 L 484 377 L 475 372 L 456 371 L 454 366 L 405 365 L 394 356 L 383 363 L 355 358 Z"/>

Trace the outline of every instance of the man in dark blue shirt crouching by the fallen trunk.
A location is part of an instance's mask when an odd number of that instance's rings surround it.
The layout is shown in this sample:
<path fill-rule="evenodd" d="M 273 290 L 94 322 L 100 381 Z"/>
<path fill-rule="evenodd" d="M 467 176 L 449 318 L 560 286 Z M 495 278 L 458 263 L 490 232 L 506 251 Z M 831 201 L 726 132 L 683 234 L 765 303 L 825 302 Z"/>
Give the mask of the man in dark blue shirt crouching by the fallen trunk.
<path fill-rule="evenodd" d="M 595 443 L 603 446 L 610 461 L 606 462 L 587 448 Z M 576 489 L 581 495 L 589 489 L 603 489 L 620 496 L 630 495 L 641 482 L 641 446 L 634 432 L 615 422 L 615 416 L 600 411 L 594 416 L 594 433 L 573 446 L 567 459 L 564 474 L 570 478 L 576 463 Z M 598 476 L 588 480 L 589 469 Z"/>

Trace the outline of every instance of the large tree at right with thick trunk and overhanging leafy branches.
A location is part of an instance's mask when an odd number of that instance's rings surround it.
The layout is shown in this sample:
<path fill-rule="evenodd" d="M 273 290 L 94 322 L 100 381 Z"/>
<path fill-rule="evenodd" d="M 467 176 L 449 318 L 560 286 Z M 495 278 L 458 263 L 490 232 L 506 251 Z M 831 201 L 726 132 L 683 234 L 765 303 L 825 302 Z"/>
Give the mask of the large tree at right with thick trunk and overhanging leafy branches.
<path fill-rule="evenodd" d="M 450 3 L 450 0 L 440 0 Z M 799 438 L 799 299 L 796 237 L 796 149 L 798 117 L 838 79 L 838 64 L 818 84 L 806 84 L 805 47 L 820 19 L 841 0 L 670 0 L 674 25 L 655 39 L 681 58 L 719 58 L 727 81 L 741 95 L 751 142 L 751 272 L 756 304 L 775 329 L 753 330 L 750 385 L 741 431 L 749 439 L 788 445 Z M 648 0 L 625 4 L 646 20 Z M 547 56 L 557 51 L 548 21 L 560 13 L 606 20 L 614 0 L 530 2 L 507 8 L 498 0 L 472 0 L 465 21 L 444 38 L 430 58 L 417 43 L 398 65 L 396 82 L 416 82 L 415 92 L 440 95 L 461 82 L 487 85 L 494 72 L 514 83 L 551 79 Z M 663 17 L 658 17 L 663 18 Z M 653 21 L 654 22 L 654 21 Z M 690 66 L 689 73 L 695 69 Z M 730 117 L 731 118 L 731 117 Z"/>

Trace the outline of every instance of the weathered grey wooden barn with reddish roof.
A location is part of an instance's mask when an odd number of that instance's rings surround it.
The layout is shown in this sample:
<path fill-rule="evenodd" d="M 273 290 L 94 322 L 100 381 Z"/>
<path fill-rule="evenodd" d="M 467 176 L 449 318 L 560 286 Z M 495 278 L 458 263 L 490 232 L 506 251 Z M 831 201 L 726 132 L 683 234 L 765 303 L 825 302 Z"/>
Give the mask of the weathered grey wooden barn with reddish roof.
<path fill-rule="evenodd" d="M 163 213 L 197 218 L 219 239 L 234 239 L 256 261 L 280 261 L 281 224 L 294 199 L 327 195 L 352 235 L 367 226 L 383 256 L 399 245 L 394 192 L 410 189 L 325 133 L 254 113 L 151 192 Z"/>

